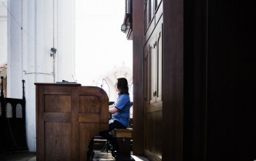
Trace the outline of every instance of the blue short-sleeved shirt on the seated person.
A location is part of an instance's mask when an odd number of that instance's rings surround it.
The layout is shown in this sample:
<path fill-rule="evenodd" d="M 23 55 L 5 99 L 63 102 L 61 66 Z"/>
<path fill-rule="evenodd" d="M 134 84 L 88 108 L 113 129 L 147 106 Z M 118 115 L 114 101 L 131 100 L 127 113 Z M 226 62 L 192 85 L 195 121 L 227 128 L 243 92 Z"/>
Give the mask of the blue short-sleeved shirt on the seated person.
<path fill-rule="evenodd" d="M 116 113 L 113 114 L 113 120 L 121 122 L 124 126 L 129 126 L 130 119 L 130 96 L 129 94 L 121 95 L 118 93 L 116 102 L 114 103 L 116 109 L 119 109 Z"/>

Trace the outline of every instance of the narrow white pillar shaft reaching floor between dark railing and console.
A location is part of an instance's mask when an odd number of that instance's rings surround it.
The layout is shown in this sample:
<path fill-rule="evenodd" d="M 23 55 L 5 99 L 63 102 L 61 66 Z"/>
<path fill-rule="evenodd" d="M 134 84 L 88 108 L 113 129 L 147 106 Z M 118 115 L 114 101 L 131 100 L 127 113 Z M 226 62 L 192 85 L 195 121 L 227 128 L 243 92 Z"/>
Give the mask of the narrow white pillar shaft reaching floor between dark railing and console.
<path fill-rule="evenodd" d="M 36 2 L 23 2 L 23 75 L 25 79 L 26 98 L 26 132 L 29 151 L 36 150 L 35 136 L 35 85 L 36 81 Z"/>

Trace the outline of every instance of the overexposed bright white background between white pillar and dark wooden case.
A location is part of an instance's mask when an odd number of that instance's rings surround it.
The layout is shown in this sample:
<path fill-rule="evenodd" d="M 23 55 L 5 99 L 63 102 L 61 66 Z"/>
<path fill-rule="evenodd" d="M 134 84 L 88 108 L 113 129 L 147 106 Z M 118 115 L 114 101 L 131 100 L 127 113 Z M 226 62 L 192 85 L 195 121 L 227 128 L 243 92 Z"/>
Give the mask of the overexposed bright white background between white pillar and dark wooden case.
<path fill-rule="evenodd" d="M 124 9 L 124 0 L 76 0 L 76 78 L 84 86 L 116 68 L 133 69 L 133 42 L 120 28 Z"/>

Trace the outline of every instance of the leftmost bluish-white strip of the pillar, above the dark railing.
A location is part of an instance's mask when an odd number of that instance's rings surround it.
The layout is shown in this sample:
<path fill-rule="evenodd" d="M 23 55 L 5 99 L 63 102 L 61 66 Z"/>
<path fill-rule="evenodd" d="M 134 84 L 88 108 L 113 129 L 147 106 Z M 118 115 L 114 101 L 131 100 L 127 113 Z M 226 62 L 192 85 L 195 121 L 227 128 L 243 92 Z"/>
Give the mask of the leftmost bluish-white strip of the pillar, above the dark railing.
<path fill-rule="evenodd" d="M 22 1 L 8 1 L 7 96 L 22 99 Z"/>

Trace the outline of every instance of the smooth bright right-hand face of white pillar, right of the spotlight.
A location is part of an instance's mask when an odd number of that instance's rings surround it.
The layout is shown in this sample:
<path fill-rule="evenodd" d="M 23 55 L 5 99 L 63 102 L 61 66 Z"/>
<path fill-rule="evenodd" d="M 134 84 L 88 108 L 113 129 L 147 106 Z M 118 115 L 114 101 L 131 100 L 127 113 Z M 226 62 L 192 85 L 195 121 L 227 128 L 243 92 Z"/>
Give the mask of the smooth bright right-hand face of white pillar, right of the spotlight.
<path fill-rule="evenodd" d="M 57 30 L 55 44 L 57 48 L 56 81 L 73 81 L 72 75 L 75 73 L 75 22 L 73 0 L 56 0 L 56 25 Z"/>

